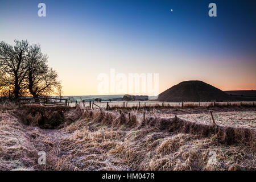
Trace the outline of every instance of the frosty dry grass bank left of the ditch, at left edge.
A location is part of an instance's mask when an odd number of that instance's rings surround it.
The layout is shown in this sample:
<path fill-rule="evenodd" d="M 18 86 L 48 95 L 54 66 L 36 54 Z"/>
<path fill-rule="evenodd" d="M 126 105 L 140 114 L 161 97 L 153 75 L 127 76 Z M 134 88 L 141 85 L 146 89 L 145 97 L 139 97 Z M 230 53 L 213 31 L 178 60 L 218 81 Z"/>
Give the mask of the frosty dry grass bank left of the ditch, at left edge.
<path fill-rule="evenodd" d="M 37 152 L 26 127 L 13 115 L 10 107 L 0 110 L 0 140 L 0 170 L 30 169 L 35 165 Z"/>

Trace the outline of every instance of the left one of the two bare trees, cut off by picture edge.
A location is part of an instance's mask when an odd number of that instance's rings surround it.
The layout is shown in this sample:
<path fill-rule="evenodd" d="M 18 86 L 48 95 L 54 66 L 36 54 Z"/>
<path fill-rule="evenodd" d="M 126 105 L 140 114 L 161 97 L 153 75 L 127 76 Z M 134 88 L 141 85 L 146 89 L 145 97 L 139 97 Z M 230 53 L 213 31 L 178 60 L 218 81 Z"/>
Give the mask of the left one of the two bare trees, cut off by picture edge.
<path fill-rule="evenodd" d="M 0 42 L 0 89 L 2 94 L 11 91 L 16 99 L 24 89 L 24 78 L 27 74 L 27 40 L 14 40 L 15 46 Z M 8 91 L 7 91 L 8 90 Z"/>

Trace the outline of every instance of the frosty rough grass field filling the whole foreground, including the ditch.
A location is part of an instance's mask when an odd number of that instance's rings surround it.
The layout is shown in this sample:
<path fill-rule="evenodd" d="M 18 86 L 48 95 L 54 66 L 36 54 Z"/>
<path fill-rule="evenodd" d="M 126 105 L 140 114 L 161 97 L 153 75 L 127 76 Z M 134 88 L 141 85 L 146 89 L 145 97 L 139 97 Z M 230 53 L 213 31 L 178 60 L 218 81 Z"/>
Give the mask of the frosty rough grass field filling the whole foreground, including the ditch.
<path fill-rule="evenodd" d="M 76 109 L 3 104 L 0 169 L 255 170 L 255 114 L 252 106 L 92 110 L 81 103 Z M 38 151 L 46 152 L 46 165 L 38 164 Z"/>

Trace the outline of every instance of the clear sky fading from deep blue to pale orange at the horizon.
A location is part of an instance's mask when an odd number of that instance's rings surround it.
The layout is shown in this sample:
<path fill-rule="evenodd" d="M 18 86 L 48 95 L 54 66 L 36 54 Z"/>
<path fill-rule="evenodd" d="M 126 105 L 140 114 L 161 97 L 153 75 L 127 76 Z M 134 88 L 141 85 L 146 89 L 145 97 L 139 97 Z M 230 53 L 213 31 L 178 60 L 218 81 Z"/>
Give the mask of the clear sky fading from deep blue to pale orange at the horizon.
<path fill-rule="evenodd" d="M 46 17 L 38 4 L 46 4 Z M 217 17 L 210 17 L 209 3 Z M 0 41 L 39 43 L 63 94 L 98 92 L 101 73 L 158 73 L 159 93 L 186 80 L 256 89 L 254 1 L 0 0 Z M 172 10 L 172 11 L 171 11 Z M 105 93 L 126 94 L 126 93 Z"/>

